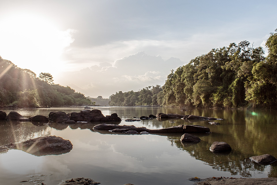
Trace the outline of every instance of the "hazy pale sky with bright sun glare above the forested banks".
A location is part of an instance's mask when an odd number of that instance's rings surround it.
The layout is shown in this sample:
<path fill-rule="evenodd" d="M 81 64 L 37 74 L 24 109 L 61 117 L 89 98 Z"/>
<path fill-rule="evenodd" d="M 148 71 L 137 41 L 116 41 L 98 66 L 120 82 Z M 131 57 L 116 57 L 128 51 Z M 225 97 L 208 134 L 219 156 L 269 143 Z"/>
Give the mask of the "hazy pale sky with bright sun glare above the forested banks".
<path fill-rule="evenodd" d="M 1 0 L 0 56 L 108 98 L 162 86 L 171 69 L 213 48 L 264 47 L 276 8 L 275 0 Z"/>

